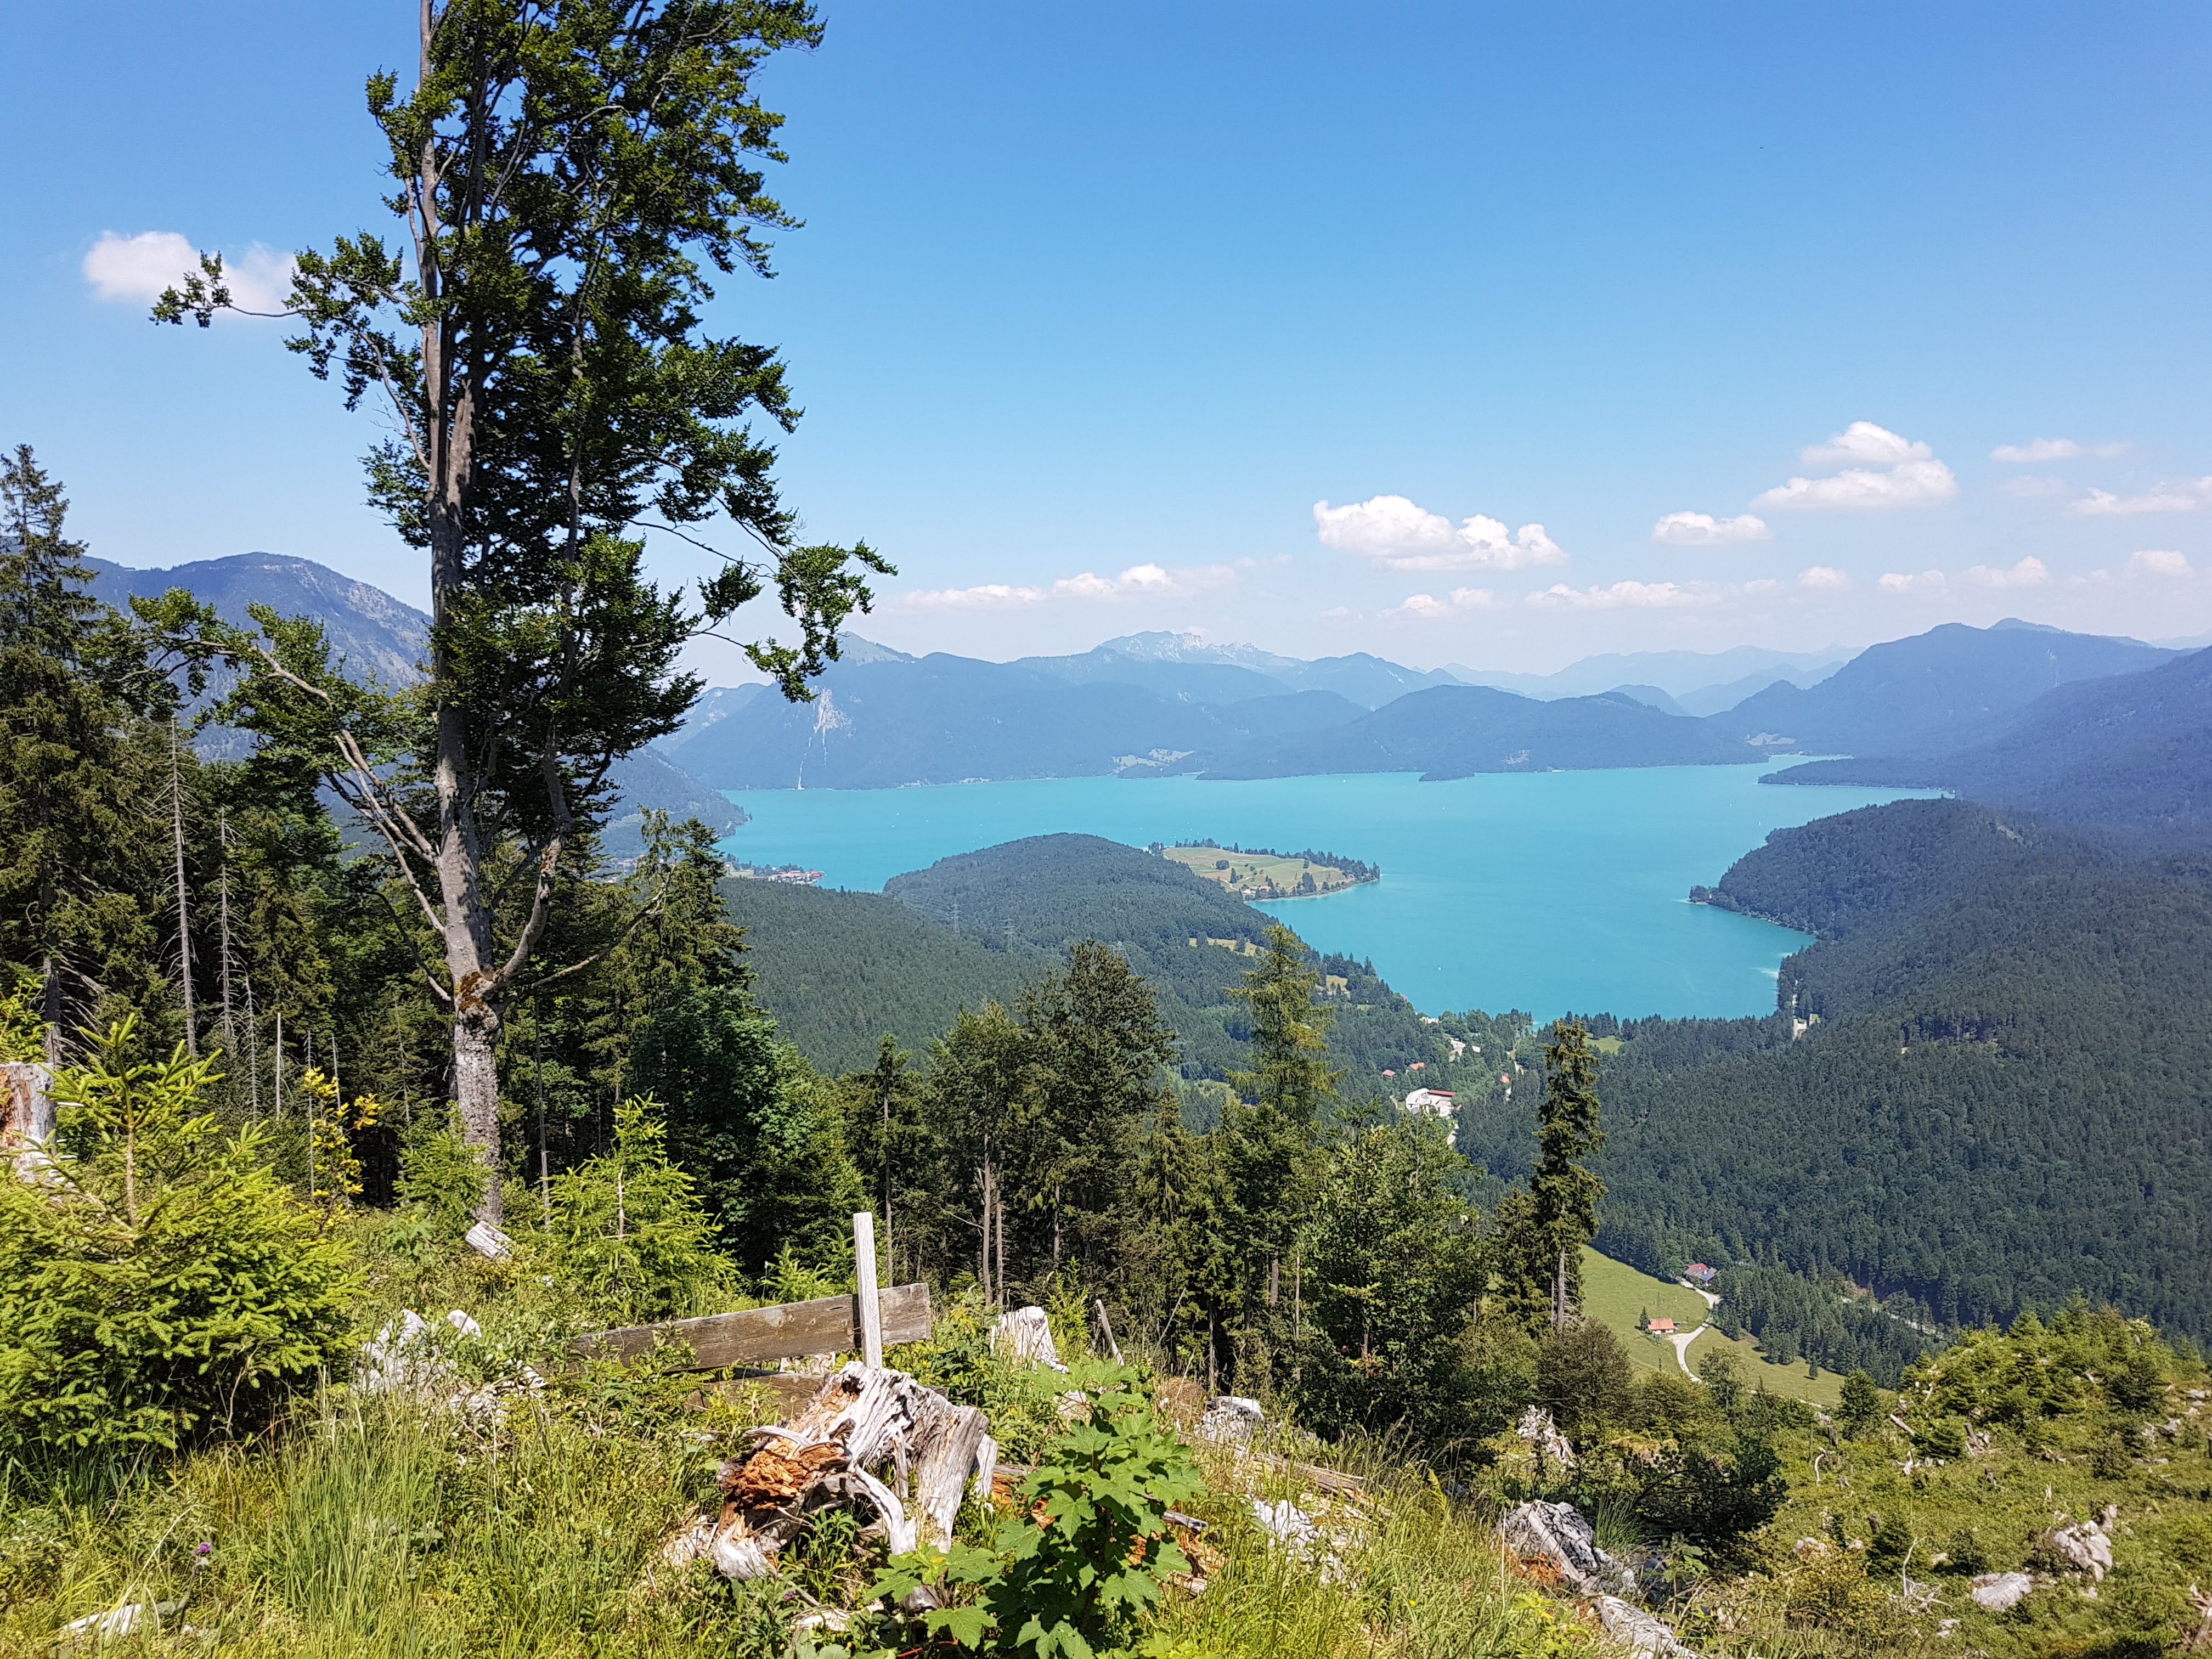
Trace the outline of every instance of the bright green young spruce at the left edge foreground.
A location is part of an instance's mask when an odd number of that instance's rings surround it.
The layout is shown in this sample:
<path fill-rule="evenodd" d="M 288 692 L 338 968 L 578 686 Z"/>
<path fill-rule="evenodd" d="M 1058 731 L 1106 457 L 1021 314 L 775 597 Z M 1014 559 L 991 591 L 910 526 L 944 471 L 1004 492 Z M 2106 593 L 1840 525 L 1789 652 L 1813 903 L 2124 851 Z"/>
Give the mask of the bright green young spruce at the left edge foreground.
<path fill-rule="evenodd" d="M 55 1073 L 55 1152 L 0 1164 L 0 1444 L 166 1447 L 268 1416 L 341 1349 L 356 1272 L 257 1130 L 199 1110 L 208 1060 Z"/>

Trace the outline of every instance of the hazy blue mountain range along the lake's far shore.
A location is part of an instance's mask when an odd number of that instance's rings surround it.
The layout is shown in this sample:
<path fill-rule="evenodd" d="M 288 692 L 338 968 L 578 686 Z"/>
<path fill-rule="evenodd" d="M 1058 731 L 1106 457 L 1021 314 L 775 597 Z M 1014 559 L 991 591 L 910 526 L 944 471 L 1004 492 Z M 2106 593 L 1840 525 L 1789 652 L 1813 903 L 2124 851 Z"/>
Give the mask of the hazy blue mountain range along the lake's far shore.
<path fill-rule="evenodd" d="M 814 703 L 717 690 L 666 748 L 723 790 L 1170 772 L 1453 779 L 1752 765 L 1778 754 L 1938 754 L 1995 737 L 2062 686 L 2139 675 L 2179 655 L 2022 622 L 1947 624 L 1836 668 L 1818 653 L 1590 659 L 1546 677 L 1557 695 L 1533 697 L 1464 684 L 1464 668 L 1420 672 L 1367 655 L 1294 661 L 1168 633 L 1006 664 L 911 657 L 854 639 L 823 675 Z M 1761 657 L 1765 668 L 1741 672 Z M 1732 679 L 1692 686 L 1699 661 Z M 1573 690 L 1613 675 L 1641 679 Z M 1759 686 L 1728 708 L 1694 712 L 1750 681 Z"/>

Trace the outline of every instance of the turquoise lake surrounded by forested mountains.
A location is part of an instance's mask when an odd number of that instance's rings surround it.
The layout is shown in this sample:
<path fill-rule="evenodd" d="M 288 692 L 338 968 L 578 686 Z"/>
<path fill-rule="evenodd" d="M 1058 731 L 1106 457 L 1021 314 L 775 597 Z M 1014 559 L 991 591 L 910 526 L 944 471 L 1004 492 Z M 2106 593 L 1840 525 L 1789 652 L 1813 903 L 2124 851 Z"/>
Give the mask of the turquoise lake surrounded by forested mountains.
<path fill-rule="evenodd" d="M 734 790 L 723 849 L 876 891 L 1000 841 L 1077 830 L 1141 847 L 1212 836 L 1336 852 L 1383 880 L 1265 905 L 1323 951 L 1371 958 L 1425 1013 L 1772 1013 L 1807 940 L 1688 900 L 1770 830 L 1909 790 L 1774 787 L 1756 765 L 1259 779 L 1044 779 L 907 790 Z"/>

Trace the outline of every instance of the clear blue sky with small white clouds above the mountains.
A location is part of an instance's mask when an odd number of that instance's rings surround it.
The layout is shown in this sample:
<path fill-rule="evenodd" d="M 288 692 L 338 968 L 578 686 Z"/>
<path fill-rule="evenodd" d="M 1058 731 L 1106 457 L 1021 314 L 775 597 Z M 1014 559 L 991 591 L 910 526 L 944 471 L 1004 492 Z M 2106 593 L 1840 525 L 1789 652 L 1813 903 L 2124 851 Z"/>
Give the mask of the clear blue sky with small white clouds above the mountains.
<path fill-rule="evenodd" d="M 765 82 L 807 228 L 714 323 L 785 349 L 810 533 L 900 564 L 872 637 L 1553 668 L 2212 633 L 2201 7 L 823 15 Z M 361 507 L 372 418 L 276 325 L 139 294 L 166 248 L 274 270 L 376 219 L 361 80 L 409 7 L 9 29 L 0 438 L 100 555 L 420 599 Z"/>

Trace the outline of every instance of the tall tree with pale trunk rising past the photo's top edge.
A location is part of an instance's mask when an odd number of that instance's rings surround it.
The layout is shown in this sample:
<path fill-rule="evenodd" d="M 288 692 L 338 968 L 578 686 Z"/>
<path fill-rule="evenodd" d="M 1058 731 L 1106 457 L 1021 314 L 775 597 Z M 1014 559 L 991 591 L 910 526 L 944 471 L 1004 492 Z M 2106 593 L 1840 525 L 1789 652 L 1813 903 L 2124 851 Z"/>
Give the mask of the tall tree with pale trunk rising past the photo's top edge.
<path fill-rule="evenodd" d="M 376 825 L 442 947 L 453 1097 L 498 1155 L 502 1009 L 577 962 L 533 967 L 608 765 L 699 692 L 684 644 L 774 586 L 796 644 L 745 644 L 785 697 L 891 573 L 865 544 L 801 546 L 748 416 L 796 418 L 772 347 L 706 332 L 712 279 L 770 274 L 763 188 L 781 117 L 752 80 L 812 46 L 805 0 L 422 0 L 414 88 L 369 77 L 403 234 L 299 254 L 288 345 L 394 436 L 369 498 L 429 555 L 418 686 L 365 686 L 312 624 L 254 611 L 230 712 L 312 754 Z M 157 321 L 237 310 L 221 259 Z M 644 529 L 750 538 L 697 604 L 644 577 Z M 710 551 L 717 551 L 710 546 Z M 498 1219 L 498 1181 L 484 1219 Z"/>

